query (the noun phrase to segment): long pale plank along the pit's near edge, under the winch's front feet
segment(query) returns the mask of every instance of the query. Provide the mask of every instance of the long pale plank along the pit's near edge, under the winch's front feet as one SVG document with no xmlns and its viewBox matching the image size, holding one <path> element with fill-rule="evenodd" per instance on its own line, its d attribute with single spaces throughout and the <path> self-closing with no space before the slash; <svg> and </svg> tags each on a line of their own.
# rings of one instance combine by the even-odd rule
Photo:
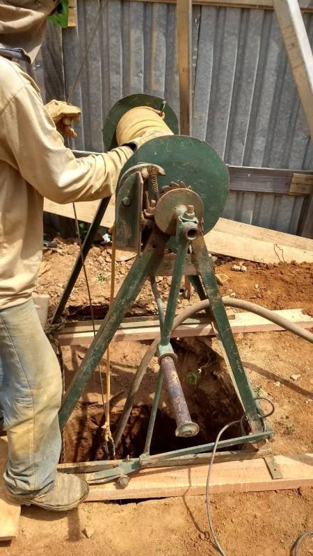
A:
<svg viewBox="0 0 313 556">
<path fill-rule="evenodd" d="M 272 479 L 264 459 L 220 461 L 213 465 L 210 492 L 259 492 L 313 486 L 313 454 L 275 456 L 282 479 Z M 115 482 L 90 486 L 88 501 L 163 498 L 205 494 L 207 465 L 143 469 L 122 490 Z"/>
</svg>

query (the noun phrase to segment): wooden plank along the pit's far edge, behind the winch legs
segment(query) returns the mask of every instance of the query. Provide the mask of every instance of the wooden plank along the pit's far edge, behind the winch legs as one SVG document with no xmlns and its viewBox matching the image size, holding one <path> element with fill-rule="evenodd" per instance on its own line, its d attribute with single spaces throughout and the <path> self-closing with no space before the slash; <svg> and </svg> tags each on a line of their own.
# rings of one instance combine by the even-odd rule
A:
<svg viewBox="0 0 313 556">
<path fill-rule="evenodd" d="M 301 309 L 283 309 L 273 311 L 278 315 L 288 318 L 291 322 L 303 328 L 313 328 L 313 318 L 305 315 Z M 230 319 L 230 326 L 234 333 L 246 332 L 271 332 L 283 330 L 282 327 L 275 325 L 266 318 L 259 317 L 254 313 L 234 313 L 234 318 Z M 99 324 L 96 325 L 96 330 Z M 187 323 L 180 325 L 172 332 L 172 338 L 186 336 L 208 336 L 213 335 L 214 330 L 209 322 Z M 122 323 L 120 328 L 113 336 L 114 342 L 117 341 L 138 341 L 153 340 L 159 335 L 159 326 L 153 321 L 147 320 L 138 323 Z M 77 325 L 69 323 L 59 332 L 58 341 L 60 345 L 88 345 L 93 341 L 93 329 L 90 324 L 84 325 L 79 322 Z"/>
</svg>

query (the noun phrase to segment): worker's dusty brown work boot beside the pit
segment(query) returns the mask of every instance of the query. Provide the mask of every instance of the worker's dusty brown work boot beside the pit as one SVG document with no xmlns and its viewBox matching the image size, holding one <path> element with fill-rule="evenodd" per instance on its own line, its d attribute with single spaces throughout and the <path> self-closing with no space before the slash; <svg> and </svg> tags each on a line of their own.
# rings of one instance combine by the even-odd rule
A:
<svg viewBox="0 0 313 556">
<path fill-rule="evenodd" d="M 57 473 L 54 488 L 45 494 L 22 496 L 6 490 L 6 496 L 15 504 L 26 506 L 34 504 L 44 509 L 51 509 L 54 512 L 66 512 L 68 509 L 76 508 L 83 500 L 86 500 L 88 492 L 88 483 L 83 479 L 68 473 Z"/>
</svg>

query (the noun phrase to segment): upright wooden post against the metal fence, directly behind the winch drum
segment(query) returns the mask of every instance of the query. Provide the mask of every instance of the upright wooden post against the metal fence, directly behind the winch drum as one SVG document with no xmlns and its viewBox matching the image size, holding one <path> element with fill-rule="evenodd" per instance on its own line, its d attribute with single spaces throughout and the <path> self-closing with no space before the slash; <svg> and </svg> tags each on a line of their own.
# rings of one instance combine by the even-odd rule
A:
<svg viewBox="0 0 313 556">
<path fill-rule="evenodd" d="M 178 0 L 176 8 L 179 78 L 179 123 L 182 135 L 191 135 L 192 120 L 192 3 Z"/>
</svg>

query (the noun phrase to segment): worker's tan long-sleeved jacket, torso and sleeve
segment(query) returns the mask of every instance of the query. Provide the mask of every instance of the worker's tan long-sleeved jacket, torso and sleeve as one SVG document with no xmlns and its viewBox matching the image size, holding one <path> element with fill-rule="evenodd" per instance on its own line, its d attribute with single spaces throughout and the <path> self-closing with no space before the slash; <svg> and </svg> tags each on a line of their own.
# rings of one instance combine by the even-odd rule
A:
<svg viewBox="0 0 313 556">
<path fill-rule="evenodd" d="M 35 82 L 0 56 L 0 309 L 25 302 L 42 255 L 43 197 L 56 203 L 112 195 L 132 150 L 75 158 Z"/>
</svg>

